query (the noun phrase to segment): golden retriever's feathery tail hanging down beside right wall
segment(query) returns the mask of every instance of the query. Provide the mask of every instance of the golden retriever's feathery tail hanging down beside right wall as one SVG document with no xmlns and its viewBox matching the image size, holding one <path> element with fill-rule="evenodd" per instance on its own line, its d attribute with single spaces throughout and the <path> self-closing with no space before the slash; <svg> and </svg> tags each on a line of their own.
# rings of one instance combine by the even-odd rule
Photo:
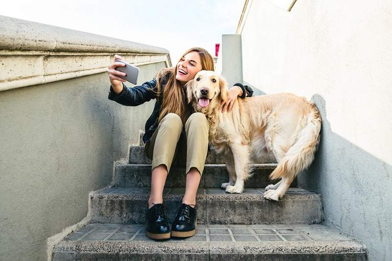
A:
<svg viewBox="0 0 392 261">
<path fill-rule="evenodd" d="M 312 163 L 319 145 L 321 129 L 319 111 L 316 106 L 313 107 L 314 110 L 308 115 L 307 125 L 299 132 L 296 142 L 272 171 L 271 179 L 287 177 L 293 180 L 299 171 Z"/>
</svg>

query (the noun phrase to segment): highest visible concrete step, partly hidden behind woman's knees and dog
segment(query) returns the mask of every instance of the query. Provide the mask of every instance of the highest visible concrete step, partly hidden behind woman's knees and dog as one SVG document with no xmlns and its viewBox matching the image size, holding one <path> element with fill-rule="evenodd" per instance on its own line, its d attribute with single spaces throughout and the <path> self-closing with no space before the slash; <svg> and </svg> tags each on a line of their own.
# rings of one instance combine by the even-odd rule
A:
<svg viewBox="0 0 392 261">
<path fill-rule="evenodd" d="M 151 160 L 147 158 L 144 146 L 132 146 L 129 151 L 130 164 L 151 164 Z M 224 164 L 224 158 L 218 156 L 215 150 L 208 151 L 206 164 Z M 264 158 L 258 159 L 255 163 L 276 163 L 275 157 L 271 154 Z"/>
</svg>

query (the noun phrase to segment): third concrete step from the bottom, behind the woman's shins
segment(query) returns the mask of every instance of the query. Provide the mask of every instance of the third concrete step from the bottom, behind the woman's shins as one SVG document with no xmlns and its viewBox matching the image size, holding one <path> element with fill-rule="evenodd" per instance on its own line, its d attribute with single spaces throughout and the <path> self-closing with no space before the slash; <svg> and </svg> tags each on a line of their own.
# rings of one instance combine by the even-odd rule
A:
<svg viewBox="0 0 392 261">
<path fill-rule="evenodd" d="M 252 164 L 253 176 L 245 182 L 245 188 L 265 188 L 271 181 L 268 176 L 275 169 L 276 164 Z M 151 165 L 127 164 L 117 165 L 114 173 L 114 184 L 118 187 L 145 188 L 151 185 Z M 228 182 L 229 176 L 226 166 L 222 164 L 206 164 L 200 180 L 200 188 L 221 188 L 221 184 Z M 185 187 L 185 167 L 172 167 L 167 177 L 165 187 Z M 296 187 L 296 180 L 291 187 Z"/>
</svg>

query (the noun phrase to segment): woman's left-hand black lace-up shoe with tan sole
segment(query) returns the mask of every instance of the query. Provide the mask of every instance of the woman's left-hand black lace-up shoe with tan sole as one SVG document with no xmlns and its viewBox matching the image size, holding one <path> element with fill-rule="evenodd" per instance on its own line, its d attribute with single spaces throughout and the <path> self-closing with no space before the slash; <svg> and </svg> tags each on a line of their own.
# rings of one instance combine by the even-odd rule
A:
<svg viewBox="0 0 392 261">
<path fill-rule="evenodd" d="M 155 204 L 146 213 L 146 234 L 152 239 L 170 238 L 170 226 L 163 204 Z"/>
</svg>

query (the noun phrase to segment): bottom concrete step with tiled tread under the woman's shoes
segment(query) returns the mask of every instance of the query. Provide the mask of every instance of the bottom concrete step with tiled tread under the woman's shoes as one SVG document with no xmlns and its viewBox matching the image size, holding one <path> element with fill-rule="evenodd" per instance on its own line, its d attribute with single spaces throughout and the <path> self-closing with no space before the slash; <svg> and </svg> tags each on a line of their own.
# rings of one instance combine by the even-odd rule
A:
<svg viewBox="0 0 392 261">
<path fill-rule="evenodd" d="M 367 249 L 323 225 L 198 225 L 153 241 L 142 225 L 92 223 L 58 243 L 53 261 L 366 261 Z"/>
</svg>

